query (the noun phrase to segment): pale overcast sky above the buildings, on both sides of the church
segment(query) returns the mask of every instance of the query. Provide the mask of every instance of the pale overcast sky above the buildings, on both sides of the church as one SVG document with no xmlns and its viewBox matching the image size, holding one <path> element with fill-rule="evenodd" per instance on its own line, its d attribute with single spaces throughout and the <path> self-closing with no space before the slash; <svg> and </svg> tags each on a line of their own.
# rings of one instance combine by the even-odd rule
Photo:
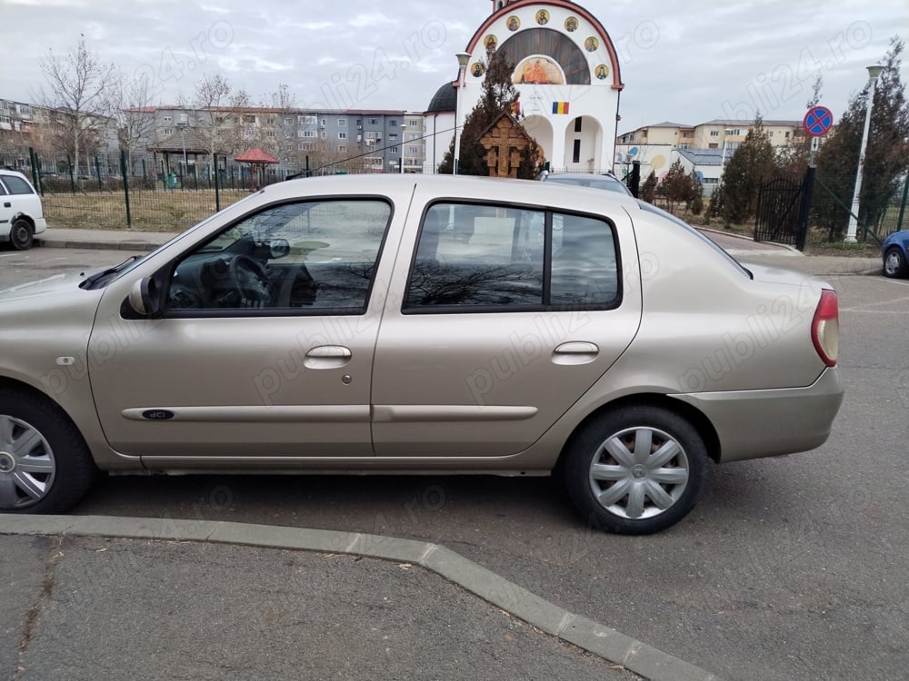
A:
<svg viewBox="0 0 909 681">
<path fill-rule="evenodd" d="M 620 132 L 714 118 L 801 119 L 814 74 L 836 116 L 864 67 L 909 35 L 906 0 L 585 0 L 612 37 Z M 0 0 L 0 98 L 35 101 L 40 59 L 80 35 L 105 62 L 155 78 L 160 103 L 204 72 L 254 100 L 288 84 L 301 107 L 423 111 L 489 0 Z M 909 81 L 904 64 L 903 82 Z"/>
</svg>

